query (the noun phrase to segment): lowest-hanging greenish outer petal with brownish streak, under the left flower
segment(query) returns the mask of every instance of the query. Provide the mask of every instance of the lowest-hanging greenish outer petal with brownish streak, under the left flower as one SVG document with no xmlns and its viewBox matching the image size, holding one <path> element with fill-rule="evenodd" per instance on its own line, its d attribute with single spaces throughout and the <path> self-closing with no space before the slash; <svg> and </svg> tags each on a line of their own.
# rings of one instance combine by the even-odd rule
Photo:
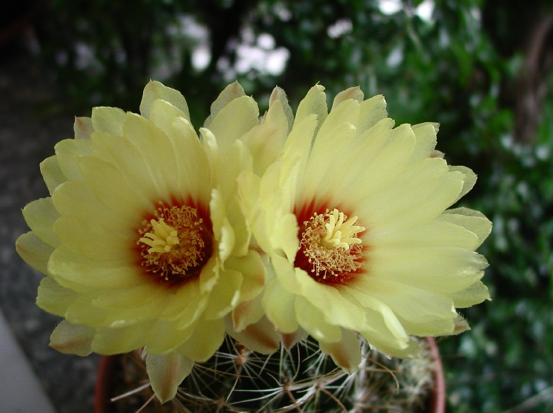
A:
<svg viewBox="0 0 553 413">
<path fill-rule="evenodd" d="M 175 397 L 178 386 L 194 367 L 194 361 L 177 352 L 146 354 L 144 359 L 151 388 L 161 403 Z"/>
</svg>

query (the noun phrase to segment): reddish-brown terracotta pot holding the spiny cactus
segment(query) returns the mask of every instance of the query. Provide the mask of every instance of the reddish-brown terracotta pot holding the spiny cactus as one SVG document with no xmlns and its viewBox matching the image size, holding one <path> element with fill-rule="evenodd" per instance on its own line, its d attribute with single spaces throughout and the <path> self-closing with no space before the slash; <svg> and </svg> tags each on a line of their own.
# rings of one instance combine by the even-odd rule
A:
<svg viewBox="0 0 553 413">
<path fill-rule="evenodd" d="M 438 345 L 436 345 L 434 338 L 427 337 L 426 339 L 435 361 L 434 388 L 429 397 L 428 412 L 444 413 L 446 389 L 440 350 L 438 349 Z M 112 413 L 116 411 L 115 405 L 110 401 L 110 399 L 113 397 L 113 388 L 115 387 L 115 383 L 120 379 L 120 376 L 117 374 L 117 369 L 120 365 L 122 357 L 123 355 L 116 355 L 102 356 L 102 358 L 100 358 L 94 394 L 94 413 Z"/>
</svg>

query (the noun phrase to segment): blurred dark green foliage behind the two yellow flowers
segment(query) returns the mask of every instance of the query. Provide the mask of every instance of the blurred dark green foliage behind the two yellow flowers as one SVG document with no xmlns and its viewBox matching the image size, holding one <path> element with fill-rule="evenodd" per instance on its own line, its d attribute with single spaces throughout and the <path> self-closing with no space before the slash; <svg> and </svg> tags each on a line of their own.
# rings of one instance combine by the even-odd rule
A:
<svg viewBox="0 0 553 413">
<path fill-rule="evenodd" d="M 78 115 L 97 104 L 136 111 L 156 77 L 182 90 L 198 127 L 236 77 L 258 102 L 275 84 L 292 106 L 317 82 L 329 95 L 360 85 L 386 96 L 397 123 L 440 122 L 438 148 L 480 176 L 462 203 L 494 222 L 480 250 L 493 301 L 465 311 L 471 332 L 441 343 L 449 410 L 553 407 L 553 79 L 525 66 L 546 1 L 52 0 L 47 12 L 41 57 Z M 280 71 L 263 66 L 275 50 L 288 50 Z M 522 117 L 518 103 L 540 87 L 545 98 Z M 517 134 L 524 119 L 538 126 Z"/>
</svg>

